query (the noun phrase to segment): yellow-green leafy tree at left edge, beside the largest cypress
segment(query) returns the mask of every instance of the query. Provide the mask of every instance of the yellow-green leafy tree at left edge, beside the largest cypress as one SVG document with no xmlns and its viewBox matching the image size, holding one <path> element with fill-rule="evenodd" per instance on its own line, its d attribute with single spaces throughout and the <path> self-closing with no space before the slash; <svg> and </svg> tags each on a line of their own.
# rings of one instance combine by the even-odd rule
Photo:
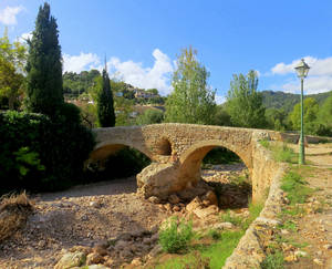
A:
<svg viewBox="0 0 332 269">
<path fill-rule="evenodd" d="M 23 66 L 27 49 L 20 42 L 10 43 L 7 31 L 0 38 L 0 100 L 3 108 L 19 106 L 19 96 L 24 92 Z"/>
</svg>

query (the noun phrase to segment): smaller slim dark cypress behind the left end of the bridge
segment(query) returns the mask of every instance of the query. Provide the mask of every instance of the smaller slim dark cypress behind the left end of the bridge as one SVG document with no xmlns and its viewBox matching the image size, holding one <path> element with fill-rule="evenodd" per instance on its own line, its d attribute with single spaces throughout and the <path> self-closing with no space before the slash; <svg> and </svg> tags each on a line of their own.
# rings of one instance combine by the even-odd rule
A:
<svg viewBox="0 0 332 269">
<path fill-rule="evenodd" d="M 114 102 L 106 68 L 103 70 L 102 87 L 97 103 L 98 122 L 102 127 L 113 127 L 115 125 Z"/>
</svg>

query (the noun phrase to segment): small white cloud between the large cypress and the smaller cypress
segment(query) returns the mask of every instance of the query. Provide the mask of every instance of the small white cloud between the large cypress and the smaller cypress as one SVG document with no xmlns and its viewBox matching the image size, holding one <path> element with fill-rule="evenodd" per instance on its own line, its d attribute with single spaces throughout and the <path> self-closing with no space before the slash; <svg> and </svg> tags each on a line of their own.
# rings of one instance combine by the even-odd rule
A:
<svg viewBox="0 0 332 269">
<path fill-rule="evenodd" d="M 80 55 L 63 54 L 63 72 L 80 73 L 83 70 L 95 69 L 100 64 L 100 58 L 93 53 L 83 53 Z"/>
</svg>

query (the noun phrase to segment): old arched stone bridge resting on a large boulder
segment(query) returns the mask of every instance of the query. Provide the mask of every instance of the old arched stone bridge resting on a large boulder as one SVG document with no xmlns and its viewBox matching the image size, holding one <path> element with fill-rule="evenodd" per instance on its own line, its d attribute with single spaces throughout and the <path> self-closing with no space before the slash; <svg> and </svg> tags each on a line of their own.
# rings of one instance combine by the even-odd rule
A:
<svg viewBox="0 0 332 269">
<path fill-rule="evenodd" d="M 100 162 L 123 146 L 144 153 L 152 164 L 137 175 L 138 192 L 145 197 L 165 198 L 172 193 L 195 187 L 200 179 L 205 155 L 216 146 L 236 153 L 248 167 L 252 199 L 259 200 L 270 185 L 258 141 L 276 132 L 194 124 L 153 124 L 95 128 L 96 146 L 91 162 Z M 271 172 L 269 172 L 271 173 Z"/>
</svg>

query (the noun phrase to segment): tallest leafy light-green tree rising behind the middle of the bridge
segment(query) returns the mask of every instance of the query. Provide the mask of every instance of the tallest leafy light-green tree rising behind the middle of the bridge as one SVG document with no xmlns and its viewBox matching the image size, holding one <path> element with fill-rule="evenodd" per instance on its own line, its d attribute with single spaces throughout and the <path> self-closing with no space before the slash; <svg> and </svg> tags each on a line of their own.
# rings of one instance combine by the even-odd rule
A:
<svg viewBox="0 0 332 269">
<path fill-rule="evenodd" d="M 173 74 L 173 93 L 166 102 L 166 122 L 211 124 L 216 111 L 215 91 L 207 85 L 209 73 L 197 51 L 184 49 Z"/>
</svg>

